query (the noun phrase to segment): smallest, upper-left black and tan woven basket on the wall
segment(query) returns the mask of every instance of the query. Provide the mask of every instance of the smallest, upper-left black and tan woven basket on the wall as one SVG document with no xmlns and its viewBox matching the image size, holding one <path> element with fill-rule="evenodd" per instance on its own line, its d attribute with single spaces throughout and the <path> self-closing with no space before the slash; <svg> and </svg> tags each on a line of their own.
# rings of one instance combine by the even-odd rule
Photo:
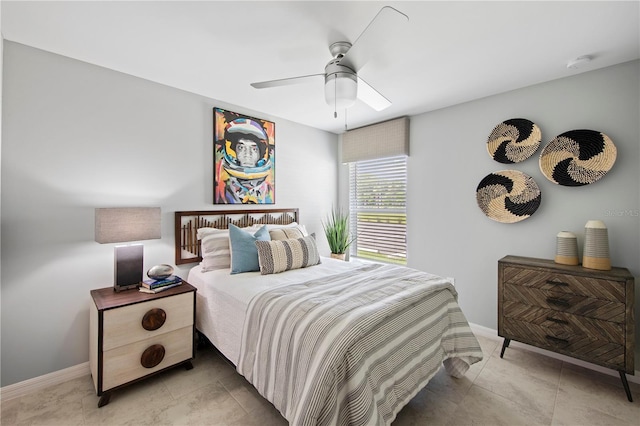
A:
<svg viewBox="0 0 640 426">
<path fill-rule="evenodd" d="M 487 140 L 489 155 L 499 163 L 519 163 L 538 150 L 540 128 L 524 118 L 512 118 L 494 127 Z"/>
</svg>

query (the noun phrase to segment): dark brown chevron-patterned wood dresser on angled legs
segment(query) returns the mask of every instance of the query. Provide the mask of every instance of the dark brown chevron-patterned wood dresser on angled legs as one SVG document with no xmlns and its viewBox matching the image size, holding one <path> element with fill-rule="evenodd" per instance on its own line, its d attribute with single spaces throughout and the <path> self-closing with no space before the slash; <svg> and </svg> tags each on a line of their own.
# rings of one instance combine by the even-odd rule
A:
<svg viewBox="0 0 640 426">
<path fill-rule="evenodd" d="M 498 335 L 502 358 L 511 340 L 634 374 L 634 278 L 610 271 L 560 265 L 553 260 L 506 256 L 498 261 Z"/>
</svg>

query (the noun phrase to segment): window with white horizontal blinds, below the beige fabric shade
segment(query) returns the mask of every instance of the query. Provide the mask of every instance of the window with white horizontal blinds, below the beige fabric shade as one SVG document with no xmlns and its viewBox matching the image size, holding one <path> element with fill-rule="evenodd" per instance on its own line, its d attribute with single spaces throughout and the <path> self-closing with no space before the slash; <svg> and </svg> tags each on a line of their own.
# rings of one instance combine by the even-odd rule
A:
<svg viewBox="0 0 640 426">
<path fill-rule="evenodd" d="M 407 263 L 407 156 L 349 163 L 352 256 Z"/>
</svg>

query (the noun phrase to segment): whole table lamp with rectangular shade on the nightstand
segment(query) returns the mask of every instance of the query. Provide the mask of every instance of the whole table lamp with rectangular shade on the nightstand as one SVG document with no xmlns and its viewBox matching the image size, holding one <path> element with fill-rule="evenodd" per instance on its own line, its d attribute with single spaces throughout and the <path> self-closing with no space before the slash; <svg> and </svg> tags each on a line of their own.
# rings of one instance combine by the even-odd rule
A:
<svg viewBox="0 0 640 426">
<path fill-rule="evenodd" d="M 160 207 L 97 208 L 95 239 L 100 244 L 161 238 Z M 114 291 L 136 288 L 143 275 L 142 244 L 115 246 Z"/>
</svg>

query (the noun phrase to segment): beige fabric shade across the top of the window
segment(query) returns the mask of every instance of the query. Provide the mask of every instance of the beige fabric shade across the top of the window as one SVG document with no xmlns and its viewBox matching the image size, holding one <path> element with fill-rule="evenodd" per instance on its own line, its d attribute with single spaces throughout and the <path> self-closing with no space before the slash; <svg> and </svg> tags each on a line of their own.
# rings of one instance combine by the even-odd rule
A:
<svg viewBox="0 0 640 426">
<path fill-rule="evenodd" d="M 409 155 L 409 118 L 401 117 L 342 135 L 342 162 Z"/>
</svg>

